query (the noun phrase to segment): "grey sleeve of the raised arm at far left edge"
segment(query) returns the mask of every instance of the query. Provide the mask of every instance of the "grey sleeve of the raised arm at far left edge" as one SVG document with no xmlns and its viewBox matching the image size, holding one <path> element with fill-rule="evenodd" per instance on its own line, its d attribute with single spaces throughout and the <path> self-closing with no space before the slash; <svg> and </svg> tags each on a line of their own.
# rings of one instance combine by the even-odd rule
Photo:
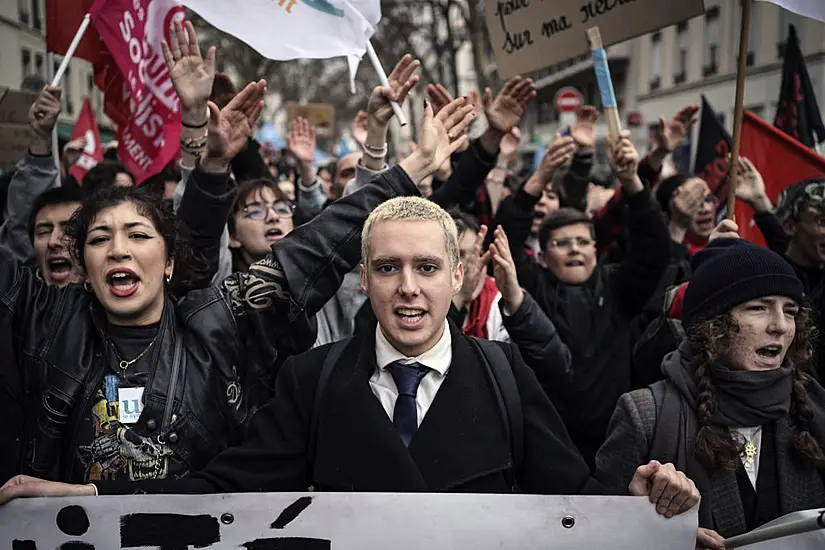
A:
<svg viewBox="0 0 825 550">
<path fill-rule="evenodd" d="M 34 259 L 29 234 L 32 205 L 37 197 L 57 185 L 54 156 L 36 157 L 26 153 L 17 163 L 9 183 L 6 221 L 0 226 L 0 245 L 8 248 L 20 263 L 28 264 Z"/>
</svg>

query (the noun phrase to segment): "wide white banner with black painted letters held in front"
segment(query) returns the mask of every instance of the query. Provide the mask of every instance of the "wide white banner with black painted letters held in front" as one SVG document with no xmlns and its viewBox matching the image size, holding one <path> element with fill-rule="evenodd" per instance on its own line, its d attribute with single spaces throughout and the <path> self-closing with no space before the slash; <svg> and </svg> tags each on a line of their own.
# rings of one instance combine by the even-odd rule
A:
<svg viewBox="0 0 825 550">
<path fill-rule="evenodd" d="M 692 550 L 697 522 L 696 508 L 666 519 L 641 497 L 256 493 L 39 498 L 0 507 L 0 548 Z"/>
</svg>

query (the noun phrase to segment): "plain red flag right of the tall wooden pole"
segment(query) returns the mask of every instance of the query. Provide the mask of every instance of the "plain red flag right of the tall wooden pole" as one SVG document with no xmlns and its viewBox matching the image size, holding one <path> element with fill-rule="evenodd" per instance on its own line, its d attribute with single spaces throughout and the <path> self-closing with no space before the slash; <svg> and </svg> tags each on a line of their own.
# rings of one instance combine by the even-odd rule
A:
<svg viewBox="0 0 825 550">
<path fill-rule="evenodd" d="M 779 193 L 802 180 L 825 176 L 825 158 L 753 113 L 745 111 L 739 154 L 753 162 L 765 180 L 768 198 L 776 203 Z M 753 209 L 736 203 L 736 223 L 743 239 L 765 245 L 753 223 Z"/>
</svg>

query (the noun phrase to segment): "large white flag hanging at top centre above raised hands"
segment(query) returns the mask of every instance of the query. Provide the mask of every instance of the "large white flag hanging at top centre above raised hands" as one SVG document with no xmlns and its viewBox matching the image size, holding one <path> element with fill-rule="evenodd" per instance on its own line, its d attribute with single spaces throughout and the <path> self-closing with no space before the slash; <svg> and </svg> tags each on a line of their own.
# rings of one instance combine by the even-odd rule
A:
<svg viewBox="0 0 825 550">
<path fill-rule="evenodd" d="M 277 60 L 362 56 L 380 0 L 180 0 L 220 30 Z"/>
</svg>

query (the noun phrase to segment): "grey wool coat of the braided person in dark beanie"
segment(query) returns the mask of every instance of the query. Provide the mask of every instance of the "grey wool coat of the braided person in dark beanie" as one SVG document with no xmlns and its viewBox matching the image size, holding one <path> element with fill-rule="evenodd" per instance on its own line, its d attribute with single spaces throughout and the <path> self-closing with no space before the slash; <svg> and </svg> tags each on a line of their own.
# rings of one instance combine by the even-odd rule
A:
<svg viewBox="0 0 825 550">
<path fill-rule="evenodd" d="M 809 396 L 821 401 L 823 390 L 818 385 L 817 388 L 812 388 Z M 627 487 L 639 464 L 650 460 L 675 463 L 675 457 L 651 456 L 655 427 L 656 402 L 649 388 L 622 395 L 610 421 L 607 440 L 596 455 L 596 477 L 608 487 Z M 776 422 L 776 467 L 783 515 L 825 506 L 823 477 L 812 468 L 804 468 L 791 456 L 793 434 L 789 418 Z M 714 529 L 725 538 L 744 533 L 747 530 L 745 511 L 736 474 L 720 469 L 712 472 L 709 479 L 710 487 L 699 487 L 702 493 L 699 525 Z"/>
</svg>

